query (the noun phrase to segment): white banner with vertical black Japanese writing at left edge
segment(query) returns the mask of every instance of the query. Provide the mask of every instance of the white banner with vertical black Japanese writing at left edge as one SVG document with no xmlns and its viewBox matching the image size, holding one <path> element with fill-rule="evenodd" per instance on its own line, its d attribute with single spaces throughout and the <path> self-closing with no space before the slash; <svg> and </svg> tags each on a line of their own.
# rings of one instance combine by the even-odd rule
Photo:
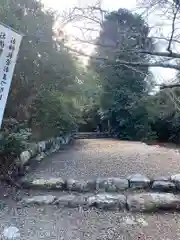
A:
<svg viewBox="0 0 180 240">
<path fill-rule="evenodd" d="M 21 40 L 21 34 L 0 24 L 0 127 Z"/>
</svg>

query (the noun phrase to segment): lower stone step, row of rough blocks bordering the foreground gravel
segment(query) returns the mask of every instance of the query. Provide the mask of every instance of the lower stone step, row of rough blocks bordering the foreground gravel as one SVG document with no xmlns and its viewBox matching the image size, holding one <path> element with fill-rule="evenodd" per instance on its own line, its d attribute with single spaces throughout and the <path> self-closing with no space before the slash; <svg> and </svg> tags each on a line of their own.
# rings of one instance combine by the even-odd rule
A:
<svg viewBox="0 0 180 240">
<path fill-rule="evenodd" d="M 180 196 L 172 193 L 138 194 L 65 194 L 62 196 L 37 195 L 25 197 L 20 205 L 54 205 L 59 208 L 98 208 L 103 210 L 156 212 L 159 210 L 180 210 Z"/>
</svg>

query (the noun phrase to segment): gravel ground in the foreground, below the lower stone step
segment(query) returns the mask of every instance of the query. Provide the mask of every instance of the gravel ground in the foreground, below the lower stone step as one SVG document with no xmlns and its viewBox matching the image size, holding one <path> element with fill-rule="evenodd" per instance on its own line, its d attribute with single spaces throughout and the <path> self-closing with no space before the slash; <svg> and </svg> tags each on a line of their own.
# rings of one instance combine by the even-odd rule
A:
<svg viewBox="0 0 180 240">
<path fill-rule="evenodd" d="M 15 226 L 20 240 L 177 240 L 179 224 L 177 213 L 147 215 L 10 205 L 0 211 L 0 231 Z"/>
</svg>

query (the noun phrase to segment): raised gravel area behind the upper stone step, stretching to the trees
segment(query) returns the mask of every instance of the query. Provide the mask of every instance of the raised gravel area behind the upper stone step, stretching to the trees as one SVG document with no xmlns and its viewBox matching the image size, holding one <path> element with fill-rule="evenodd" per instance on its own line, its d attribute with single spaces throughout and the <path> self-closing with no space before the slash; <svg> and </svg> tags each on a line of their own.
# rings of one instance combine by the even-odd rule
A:
<svg viewBox="0 0 180 240">
<path fill-rule="evenodd" d="M 177 150 L 116 140 L 78 140 L 68 151 L 43 160 L 35 169 L 37 177 L 125 177 L 144 173 L 149 177 L 180 171 Z"/>
</svg>

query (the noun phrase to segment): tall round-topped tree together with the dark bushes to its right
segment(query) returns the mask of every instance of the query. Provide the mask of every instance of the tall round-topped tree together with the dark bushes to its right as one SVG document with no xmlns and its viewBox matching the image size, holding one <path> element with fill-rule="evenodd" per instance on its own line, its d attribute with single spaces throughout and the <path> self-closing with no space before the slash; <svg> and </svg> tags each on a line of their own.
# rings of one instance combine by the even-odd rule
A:
<svg viewBox="0 0 180 240">
<path fill-rule="evenodd" d="M 84 112 L 86 126 L 94 128 L 100 122 L 100 112 L 101 123 L 109 121 L 111 134 L 120 139 L 179 143 L 180 90 L 173 90 L 177 103 L 170 90 L 150 95 L 154 82 L 148 68 L 119 65 L 116 61 L 148 61 L 136 51 L 155 47 L 148 34 L 145 21 L 128 10 L 119 9 L 106 17 L 95 56 L 107 60 L 89 63 L 99 76 L 101 97 L 95 108 Z"/>
</svg>

